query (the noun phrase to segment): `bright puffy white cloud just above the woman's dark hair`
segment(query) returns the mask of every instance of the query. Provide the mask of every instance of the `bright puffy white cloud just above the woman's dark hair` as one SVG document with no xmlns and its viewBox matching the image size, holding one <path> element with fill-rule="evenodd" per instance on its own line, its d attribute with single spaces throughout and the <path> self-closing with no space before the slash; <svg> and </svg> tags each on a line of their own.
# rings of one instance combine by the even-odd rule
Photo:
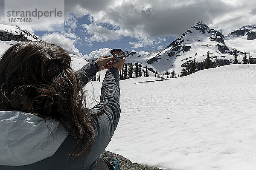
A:
<svg viewBox="0 0 256 170">
<path fill-rule="evenodd" d="M 64 35 L 68 35 L 68 34 L 65 33 Z M 64 35 L 58 32 L 54 32 L 52 34 L 44 34 L 42 36 L 42 40 L 61 46 L 69 54 L 75 54 L 79 57 L 84 57 L 83 54 L 81 54 L 74 45 L 74 42 L 76 42 L 76 40 L 72 40 Z M 72 37 L 73 35 L 70 34 L 69 36 Z"/>
</svg>

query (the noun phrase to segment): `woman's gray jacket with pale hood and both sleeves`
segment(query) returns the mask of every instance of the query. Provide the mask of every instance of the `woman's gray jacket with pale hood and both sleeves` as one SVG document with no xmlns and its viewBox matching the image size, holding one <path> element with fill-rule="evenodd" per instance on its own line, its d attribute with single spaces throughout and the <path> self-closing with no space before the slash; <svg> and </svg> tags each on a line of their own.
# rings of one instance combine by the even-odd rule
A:
<svg viewBox="0 0 256 170">
<path fill-rule="evenodd" d="M 98 70 L 96 62 L 89 62 L 78 71 L 86 75 L 82 77 L 84 86 Z M 100 103 L 91 109 L 93 114 L 99 113 L 103 102 L 106 110 L 93 124 L 96 137 L 82 161 L 70 162 L 68 155 L 77 139 L 58 121 L 21 111 L 0 111 L 0 170 L 94 170 L 119 121 L 119 94 L 119 72 L 110 68 L 102 82 Z"/>
</svg>

